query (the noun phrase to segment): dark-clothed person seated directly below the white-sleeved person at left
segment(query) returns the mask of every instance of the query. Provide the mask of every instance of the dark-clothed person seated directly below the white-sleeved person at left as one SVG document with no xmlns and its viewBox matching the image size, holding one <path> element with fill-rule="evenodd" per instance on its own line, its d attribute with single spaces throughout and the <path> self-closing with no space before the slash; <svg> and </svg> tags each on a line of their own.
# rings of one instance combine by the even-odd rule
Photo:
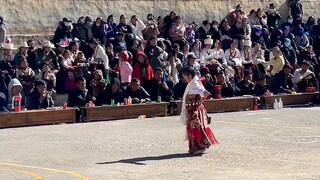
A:
<svg viewBox="0 0 320 180">
<path fill-rule="evenodd" d="M 92 87 L 92 96 L 94 97 L 94 99 L 96 99 L 96 97 L 106 86 L 101 70 L 97 69 L 93 73 L 93 79 L 90 82 L 90 86 Z"/>
</svg>

